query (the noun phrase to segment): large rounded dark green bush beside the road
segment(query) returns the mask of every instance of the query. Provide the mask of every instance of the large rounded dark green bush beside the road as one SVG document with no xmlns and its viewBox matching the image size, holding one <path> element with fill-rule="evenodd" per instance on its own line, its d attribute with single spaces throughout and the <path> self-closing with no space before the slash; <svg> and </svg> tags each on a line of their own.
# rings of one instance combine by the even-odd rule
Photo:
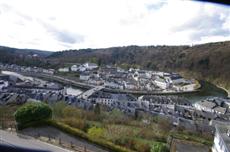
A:
<svg viewBox="0 0 230 152">
<path fill-rule="evenodd" d="M 19 125 L 34 121 L 42 121 L 52 117 L 52 110 L 47 104 L 41 102 L 26 103 L 15 113 L 15 120 Z"/>
</svg>

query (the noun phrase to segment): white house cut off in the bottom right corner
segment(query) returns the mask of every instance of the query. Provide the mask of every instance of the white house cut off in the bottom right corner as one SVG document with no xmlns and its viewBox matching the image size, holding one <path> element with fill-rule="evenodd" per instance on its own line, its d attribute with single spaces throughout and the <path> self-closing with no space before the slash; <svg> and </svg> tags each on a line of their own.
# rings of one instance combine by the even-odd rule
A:
<svg viewBox="0 0 230 152">
<path fill-rule="evenodd" d="M 217 124 L 215 128 L 212 152 L 230 152 L 230 126 Z"/>
</svg>

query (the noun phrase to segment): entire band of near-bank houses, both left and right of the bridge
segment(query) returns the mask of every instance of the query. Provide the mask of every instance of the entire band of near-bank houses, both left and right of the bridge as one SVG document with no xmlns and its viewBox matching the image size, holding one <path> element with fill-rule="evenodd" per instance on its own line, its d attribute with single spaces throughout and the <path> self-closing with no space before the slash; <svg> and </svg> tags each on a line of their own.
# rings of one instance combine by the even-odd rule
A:
<svg viewBox="0 0 230 152">
<path fill-rule="evenodd" d="M 16 76 L 17 78 L 15 78 Z M 50 103 L 65 101 L 70 105 L 86 109 L 95 106 L 95 104 L 101 104 L 109 109 L 120 109 L 130 115 L 134 115 L 136 111 L 143 111 L 190 120 L 197 117 L 229 120 L 230 101 L 227 99 L 212 98 L 191 105 L 185 98 L 178 96 L 143 95 L 137 98 L 131 94 L 109 93 L 104 91 L 106 86 L 96 86 L 80 95 L 72 95 L 67 94 L 66 88 L 58 83 L 37 78 L 30 79 L 31 77 L 23 77 L 19 74 L 16 76 L 0 76 L 0 88 L 2 88 L 0 91 L 2 94 L 22 94 L 30 99 L 48 101 Z M 5 96 L 4 98 L 8 99 Z M 3 103 L 8 103 L 5 99 Z M 17 97 L 15 99 L 16 102 L 25 102 L 19 99 L 21 98 Z"/>
</svg>

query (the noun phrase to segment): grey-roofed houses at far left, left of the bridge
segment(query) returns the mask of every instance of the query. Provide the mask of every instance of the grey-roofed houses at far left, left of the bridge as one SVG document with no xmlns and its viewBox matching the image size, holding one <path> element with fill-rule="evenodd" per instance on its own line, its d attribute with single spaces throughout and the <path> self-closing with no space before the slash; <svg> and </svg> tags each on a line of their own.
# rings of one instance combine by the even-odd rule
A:
<svg viewBox="0 0 230 152">
<path fill-rule="evenodd" d="M 25 77 L 10 71 L 2 71 L 0 75 L 0 102 L 4 104 L 22 104 L 27 99 L 57 102 L 63 99 L 65 92 L 64 87 L 58 83 Z"/>
</svg>

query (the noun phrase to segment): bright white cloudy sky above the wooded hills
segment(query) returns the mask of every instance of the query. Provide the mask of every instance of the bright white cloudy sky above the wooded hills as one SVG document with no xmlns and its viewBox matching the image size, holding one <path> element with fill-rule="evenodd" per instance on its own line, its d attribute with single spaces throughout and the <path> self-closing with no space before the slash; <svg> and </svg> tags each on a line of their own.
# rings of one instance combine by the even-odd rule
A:
<svg viewBox="0 0 230 152">
<path fill-rule="evenodd" d="M 0 45 L 61 51 L 230 40 L 230 6 L 188 0 L 0 0 Z"/>
</svg>

